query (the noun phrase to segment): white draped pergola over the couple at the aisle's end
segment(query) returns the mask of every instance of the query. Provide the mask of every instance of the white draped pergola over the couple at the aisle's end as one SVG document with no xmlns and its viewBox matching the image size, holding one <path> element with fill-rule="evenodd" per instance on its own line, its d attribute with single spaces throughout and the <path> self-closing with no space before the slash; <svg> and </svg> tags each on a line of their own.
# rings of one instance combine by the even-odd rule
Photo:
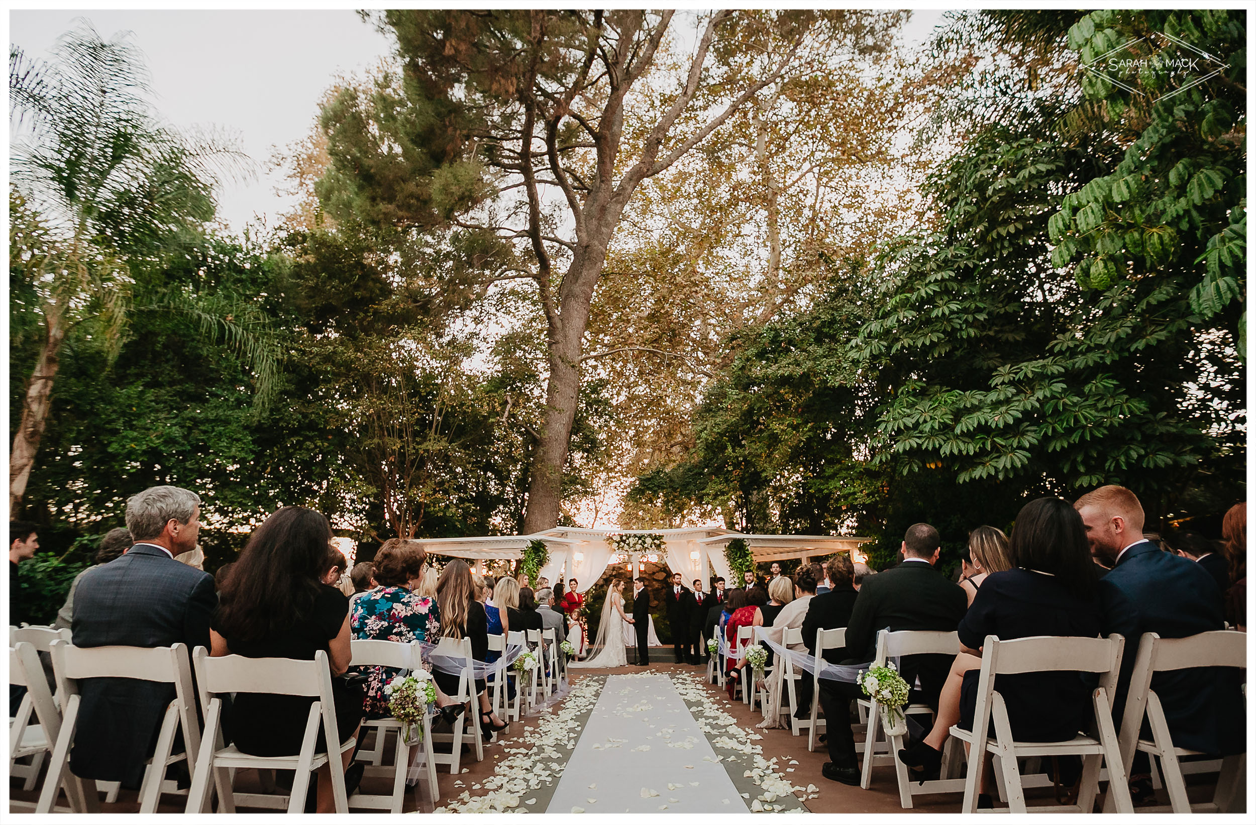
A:
<svg viewBox="0 0 1256 825">
<path fill-rule="evenodd" d="M 531 541 L 544 541 L 549 547 L 549 561 L 540 574 L 551 583 L 575 579 L 578 590 L 588 590 L 602 578 L 612 564 L 631 566 L 633 578 L 639 574 L 642 556 L 628 554 L 617 556 L 607 540 L 608 535 L 654 534 L 663 536 L 664 549 L 658 561 L 666 563 L 673 573 L 685 576 L 686 584 L 693 579 L 707 579 L 707 565 L 716 575 L 723 576 L 730 586 L 728 564 L 723 547 L 734 539 L 742 539 L 755 561 L 799 559 L 804 564 L 811 556 L 845 553 L 852 561 L 862 561 L 859 545 L 872 541 L 863 536 L 779 536 L 737 532 L 723 527 L 682 527 L 679 530 L 588 530 L 584 527 L 554 527 L 525 536 L 472 536 L 463 539 L 414 539 L 423 550 L 440 556 L 467 559 L 470 561 L 516 561 Z"/>
</svg>

